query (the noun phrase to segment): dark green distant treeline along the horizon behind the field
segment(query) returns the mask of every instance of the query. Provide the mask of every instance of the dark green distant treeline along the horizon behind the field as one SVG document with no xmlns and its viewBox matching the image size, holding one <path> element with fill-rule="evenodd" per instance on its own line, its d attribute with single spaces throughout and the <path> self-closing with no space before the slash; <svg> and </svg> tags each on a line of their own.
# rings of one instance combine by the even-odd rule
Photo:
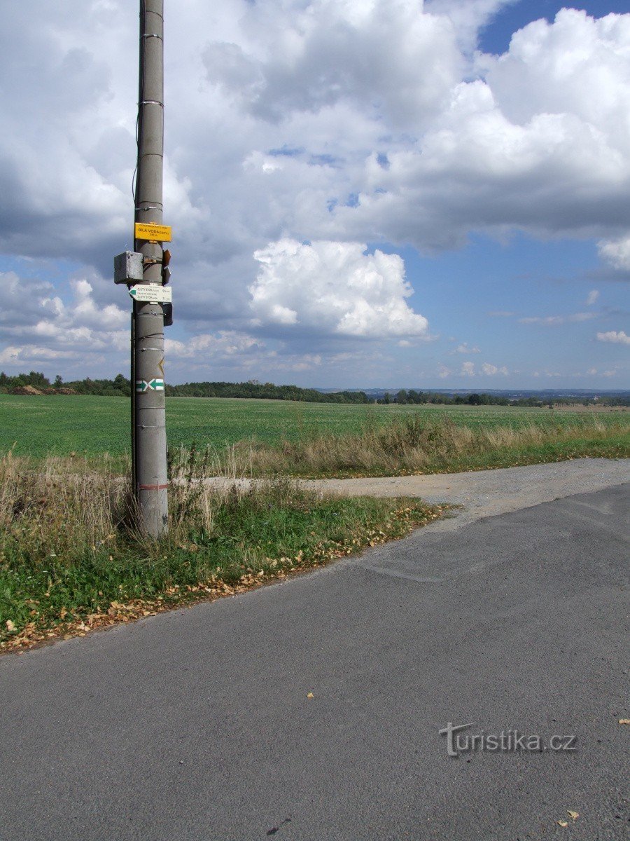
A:
<svg viewBox="0 0 630 841">
<path fill-rule="evenodd" d="M 98 397 L 129 397 L 131 383 L 129 379 L 119 373 L 113 379 L 77 379 L 64 382 L 57 375 L 52 383 L 39 371 L 20 373 L 17 377 L 8 377 L 0 373 L 0 394 L 6 394 L 19 387 L 31 386 L 39 391 L 53 394 L 93 394 Z M 324 394 L 317 389 L 301 389 L 297 385 L 274 385 L 274 383 L 259 383 L 250 379 L 246 383 L 184 383 L 183 385 L 166 384 L 167 397 L 252 397 L 269 400 L 299 400 L 304 403 L 380 403 L 398 405 L 423 405 L 426 403 L 442 405 L 473 405 L 473 406 L 552 406 L 552 405 L 606 405 L 627 406 L 630 398 L 625 396 L 608 395 L 598 398 L 584 397 L 522 397 L 510 399 L 501 394 L 444 394 L 433 391 L 416 391 L 415 389 L 401 389 L 396 394 L 386 392 L 384 397 L 374 400 L 365 391 L 335 391 Z"/>
</svg>

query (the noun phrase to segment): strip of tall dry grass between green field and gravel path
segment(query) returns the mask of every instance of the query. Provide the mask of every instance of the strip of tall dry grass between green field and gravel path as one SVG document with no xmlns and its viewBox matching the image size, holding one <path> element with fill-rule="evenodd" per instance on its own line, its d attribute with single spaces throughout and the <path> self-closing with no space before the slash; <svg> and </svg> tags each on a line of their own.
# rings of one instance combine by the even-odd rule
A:
<svg viewBox="0 0 630 841">
<path fill-rule="evenodd" d="M 309 478 L 459 473 L 570 458 L 628 458 L 630 423 L 580 422 L 539 426 L 459 426 L 448 417 L 396 418 L 360 434 L 319 435 L 276 447 L 240 443 L 230 451 L 237 468 L 254 475 Z"/>
</svg>

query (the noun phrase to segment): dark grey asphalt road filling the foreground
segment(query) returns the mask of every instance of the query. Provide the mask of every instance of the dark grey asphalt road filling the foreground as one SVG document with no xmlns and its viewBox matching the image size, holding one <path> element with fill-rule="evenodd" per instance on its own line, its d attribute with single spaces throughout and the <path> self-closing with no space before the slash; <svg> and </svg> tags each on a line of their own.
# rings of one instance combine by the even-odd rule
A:
<svg viewBox="0 0 630 841">
<path fill-rule="evenodd" d="M 626 838 L 629 487 L 0 659 L 0 838 Z"/>
</svg>

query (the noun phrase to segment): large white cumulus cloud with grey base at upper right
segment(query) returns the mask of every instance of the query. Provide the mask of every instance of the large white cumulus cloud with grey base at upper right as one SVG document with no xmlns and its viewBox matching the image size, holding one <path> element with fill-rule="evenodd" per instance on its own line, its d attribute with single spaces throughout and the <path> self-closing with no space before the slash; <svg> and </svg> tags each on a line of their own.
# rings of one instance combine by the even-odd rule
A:
<svg viewBox="0 0 630 841">
<path fill-rule="evenodd" d="M 381 226 L 420 248 L 457 245 L 470 230 L 597 235 L 620 230 L 630 188 L 630 15 L 572 9 L 529 24 L 503 56 L 481 56 L 478 78 L 416 144 L 365 170 L 339 221 Z M 579 197 L 579 201 L 576 198 Z"/>
</svg>

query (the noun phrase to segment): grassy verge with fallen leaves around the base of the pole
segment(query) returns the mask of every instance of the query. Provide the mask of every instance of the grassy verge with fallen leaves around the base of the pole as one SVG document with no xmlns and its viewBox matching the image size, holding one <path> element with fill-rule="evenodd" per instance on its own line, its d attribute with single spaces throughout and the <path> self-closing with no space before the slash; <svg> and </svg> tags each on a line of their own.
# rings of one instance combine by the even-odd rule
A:
<svg viewBox="0 0 630 841">
<path fill-rule="evenodd" d="M 290 479 L 217 489 L 200 481 L 216 465 L 193 451 L 174 468 L 168 535 L 152 542 L 129 525 L 129 488 L 110 466 L 0 459 L 0 651 L 243 592 L 403 537 L 444 507 Z"/>
</svg>

